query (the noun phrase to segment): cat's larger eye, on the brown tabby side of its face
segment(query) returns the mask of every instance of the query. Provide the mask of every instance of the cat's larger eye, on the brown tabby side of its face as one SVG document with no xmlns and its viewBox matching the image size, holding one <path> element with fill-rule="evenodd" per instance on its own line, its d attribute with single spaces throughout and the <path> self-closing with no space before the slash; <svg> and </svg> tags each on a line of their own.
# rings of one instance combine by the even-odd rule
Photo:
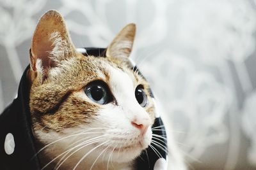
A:
<svg viewBox="0 0 256 170">
<path fill-rule="evenodd" d="M 93 102 L 99 104 L 109 103 L 110 93 L 106 83 L 103 81 L 93 81 L 84 88 L 86 96 L 88 96 Z"/>
</svg>

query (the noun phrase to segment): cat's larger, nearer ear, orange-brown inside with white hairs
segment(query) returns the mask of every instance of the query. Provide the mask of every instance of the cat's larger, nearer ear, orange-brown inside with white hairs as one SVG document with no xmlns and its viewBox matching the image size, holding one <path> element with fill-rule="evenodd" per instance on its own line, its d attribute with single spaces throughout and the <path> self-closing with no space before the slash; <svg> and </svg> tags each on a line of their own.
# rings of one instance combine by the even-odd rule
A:
<svg viewBox="0 0 256 170">
<path fill-rule="evenodd" d="M 36 25 L 30 50 L 33 71 L 56 66 L 61 60 L 76 53 L 63 17 L 55 10 L 47 11 Z"/>
</svg>

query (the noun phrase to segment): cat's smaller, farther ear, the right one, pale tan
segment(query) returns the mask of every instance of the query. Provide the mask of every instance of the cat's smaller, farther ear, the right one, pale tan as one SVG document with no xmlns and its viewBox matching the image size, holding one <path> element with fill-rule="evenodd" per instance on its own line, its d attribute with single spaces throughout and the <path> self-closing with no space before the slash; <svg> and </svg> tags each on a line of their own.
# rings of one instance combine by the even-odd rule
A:
<svg viewBox="0 0 256 170">
<path fill-rule="evenodd" d="M 136 33 L 136 25 L 128 24 L 113 39 L 107 48 L 107 57 L 129 57 Z"/>
</svg>

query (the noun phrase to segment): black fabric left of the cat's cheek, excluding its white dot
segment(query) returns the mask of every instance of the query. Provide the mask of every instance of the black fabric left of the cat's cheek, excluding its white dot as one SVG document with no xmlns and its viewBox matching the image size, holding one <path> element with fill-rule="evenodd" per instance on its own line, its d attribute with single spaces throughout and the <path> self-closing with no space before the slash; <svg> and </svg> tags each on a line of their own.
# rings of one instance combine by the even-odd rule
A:
<svg viewBox="0 0 256 170">
<path fill-rule="evenodd" d="M 39 169 L 38 159 L 31 160 L 35 155 L 34 138 L 31 132 L 29 113 L 29 85 L 24 71 L 20 80 L 17 99 L 14 99 L 0 115 L 0 169 Z M 4 151 L 6 134 L 12 133 L 15 149 L 11 155 Z"/>
</svg>

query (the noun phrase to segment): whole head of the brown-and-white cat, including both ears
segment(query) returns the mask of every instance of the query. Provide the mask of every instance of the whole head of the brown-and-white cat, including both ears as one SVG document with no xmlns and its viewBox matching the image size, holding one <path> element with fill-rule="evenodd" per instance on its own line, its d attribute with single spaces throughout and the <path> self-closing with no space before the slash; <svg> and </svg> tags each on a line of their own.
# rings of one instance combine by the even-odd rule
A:
<svg viewBox="0 0 256 170">
<path fill-rule="evenodd" d="M 31 45 L 29 107 L 45 164 L 131 162 L 150 145 L 154 104 L 147 81 L 129 64 L 134 35 L 129 24 L 107 57 L 84 57 L 58 12 L 40 19 Z"/>
</svg>

